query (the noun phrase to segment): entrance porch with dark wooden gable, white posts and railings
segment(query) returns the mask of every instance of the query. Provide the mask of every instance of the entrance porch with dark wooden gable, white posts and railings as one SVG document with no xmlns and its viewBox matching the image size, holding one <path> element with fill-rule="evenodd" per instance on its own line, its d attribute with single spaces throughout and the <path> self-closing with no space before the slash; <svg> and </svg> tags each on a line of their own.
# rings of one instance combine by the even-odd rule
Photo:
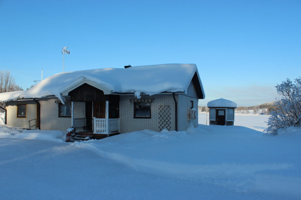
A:
<svg viewBox="0 0 301 200">
<path fill-rule="evenodd" d="M 74 85 L 65 91 L 71 100 L 71 126 L 76 130 L 84 130 L 76 133 L 79 140 L 103 139 L 120 131 L 119 95 L 92 85 Z M 75 102 L 85 103 L 84 115 L 77 114 L 77 118 L 74 117 Z"/>
</svg>

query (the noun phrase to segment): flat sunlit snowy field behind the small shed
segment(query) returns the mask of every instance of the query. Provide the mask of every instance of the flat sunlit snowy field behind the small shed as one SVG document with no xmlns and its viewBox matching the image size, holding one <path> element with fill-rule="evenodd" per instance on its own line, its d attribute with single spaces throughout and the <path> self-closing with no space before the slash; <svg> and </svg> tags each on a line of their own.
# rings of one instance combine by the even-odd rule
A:
<svg viewBox="0 0 301 200">
<path fill-rule="evenodd" d="M 236 113 L 234 115 L 235 126 L 244 126 L 258 131 L 263 131 L 268 127 L 265 121 L 268 121 L 268 115 Z M 199 124 L 206 124 L 206 112 L 199 112 Z M 209 125 L 209 112 L 207 113 L 207 125 Z"/>
</svg>

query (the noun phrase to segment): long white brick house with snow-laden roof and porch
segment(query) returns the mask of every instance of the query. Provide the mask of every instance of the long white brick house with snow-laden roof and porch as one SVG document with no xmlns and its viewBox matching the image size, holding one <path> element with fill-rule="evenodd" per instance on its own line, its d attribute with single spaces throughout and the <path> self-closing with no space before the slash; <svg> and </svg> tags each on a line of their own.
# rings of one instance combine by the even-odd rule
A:
<svg viewBox="0 0 301 200">
<path fill-rule="evenodd" d="M 195 64 L 125 66 L 58 73 L 27 91 L 0 94 L 5 122 L 40 130 L 92 130 L 95 134 L 198 125 L 205 94 Z"/>
</svg>

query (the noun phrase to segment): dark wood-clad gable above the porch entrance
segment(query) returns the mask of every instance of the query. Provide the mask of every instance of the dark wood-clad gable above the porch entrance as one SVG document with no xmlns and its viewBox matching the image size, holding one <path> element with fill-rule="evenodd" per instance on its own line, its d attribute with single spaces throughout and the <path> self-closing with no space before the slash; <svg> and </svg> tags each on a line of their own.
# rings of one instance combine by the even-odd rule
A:
<svg viewBox="0 0 301 200">
<path fill-rule="evenodd" d="M 87 101 L 119 101 L 119 95 L 104 94 L 104 92 L 98 88 L 95 88 L 87 83 L 70 91 L 68 94 L 71 101 L 87 102 Z"/>
</svg>

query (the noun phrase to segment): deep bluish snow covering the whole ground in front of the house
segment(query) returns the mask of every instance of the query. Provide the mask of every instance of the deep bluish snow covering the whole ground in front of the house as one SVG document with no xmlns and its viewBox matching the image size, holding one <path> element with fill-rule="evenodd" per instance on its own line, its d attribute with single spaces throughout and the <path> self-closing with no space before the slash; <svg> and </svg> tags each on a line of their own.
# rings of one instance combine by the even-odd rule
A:
<svg viewBox="0 0 301 200">
<path fill-rule="evenodd" d="M 66 143 L 1 125 L 0 199 L 300 199 L 301 130 L 263 135 L 200 124 Z"/>
</svg>

